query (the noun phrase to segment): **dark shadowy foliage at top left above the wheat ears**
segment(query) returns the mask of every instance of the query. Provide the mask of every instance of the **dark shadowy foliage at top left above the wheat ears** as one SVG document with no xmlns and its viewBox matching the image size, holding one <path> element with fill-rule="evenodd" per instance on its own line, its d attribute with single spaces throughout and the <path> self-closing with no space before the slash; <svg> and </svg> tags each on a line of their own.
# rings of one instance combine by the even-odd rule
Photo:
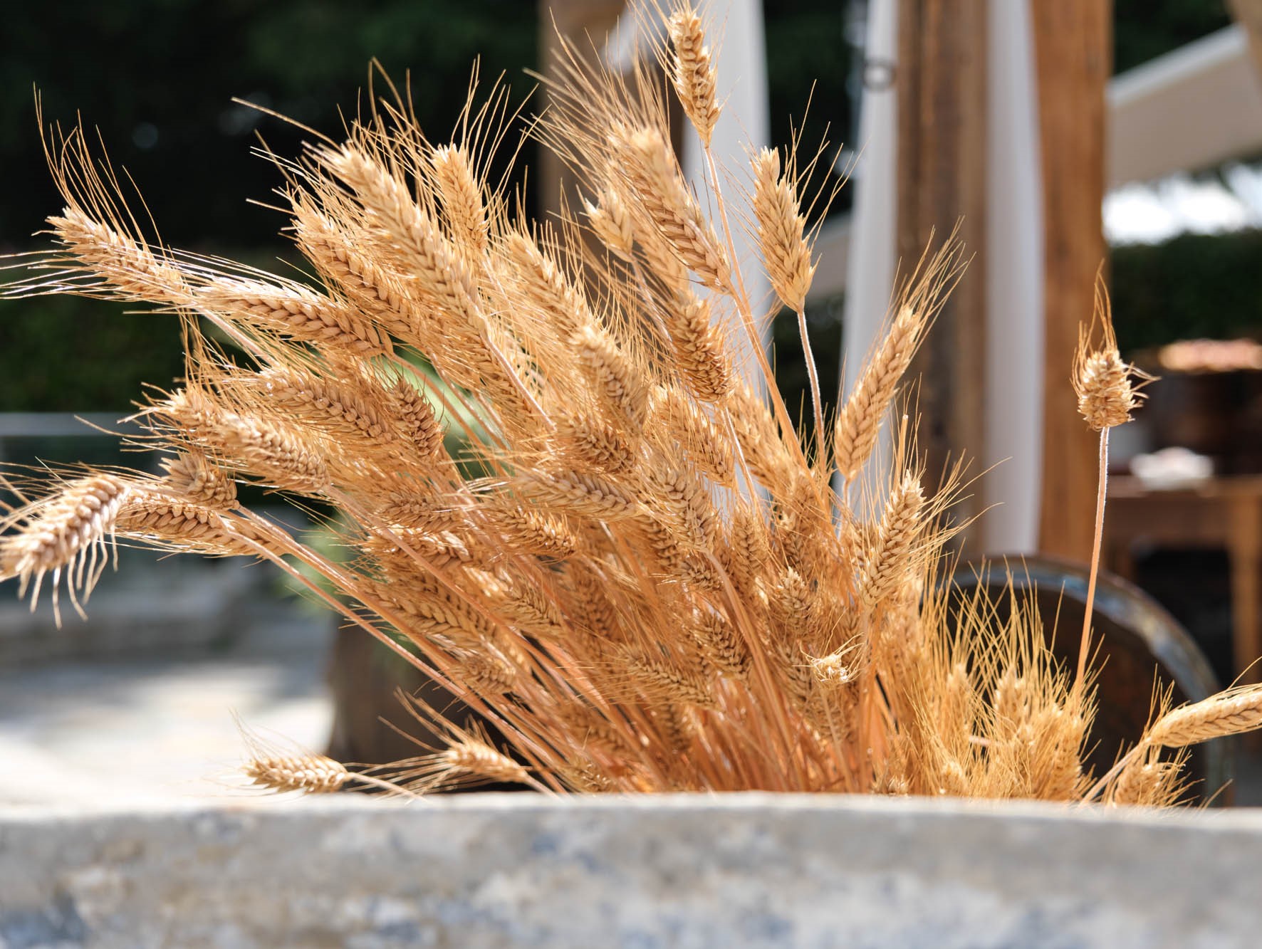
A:
<svg viewBox="0 0 1262 949">
<path fill-rule="evenodd" d="M 310 136 L 256 102 L 337 135 L 376 57 L 416 115 L 445 134 L 475 57 L 522 95 L 535 62 L 535 5 L 522 0 L 58 0 L 9 4 L 0 29 L 0 249 L 23 246 L 59 207 L 38 146 L 32 87 L 45 121 L 98 126 L 155 208 L 172 244 L 276 246 L 276 215 L 246 204 L 280 184 L 252 156 L 260 133 L 294 155 Z M 341 112 L 339 112 L 341 110 Z M 13 182 L 21 182 L 14 188 Z"/>
</svg>

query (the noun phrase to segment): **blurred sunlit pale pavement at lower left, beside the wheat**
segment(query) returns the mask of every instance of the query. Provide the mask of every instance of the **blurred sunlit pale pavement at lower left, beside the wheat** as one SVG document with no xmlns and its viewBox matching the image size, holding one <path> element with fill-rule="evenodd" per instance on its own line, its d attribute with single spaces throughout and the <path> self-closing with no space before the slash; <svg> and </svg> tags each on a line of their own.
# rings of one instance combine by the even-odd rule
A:
<svg viewBox="0 0 1262 949">
<path fill-rule="evenodd" d="M 332 617 L 264 588 L 236 622 L 209 645 L 0 665 L 0 806 L 222 803 L 240 794 L 233 713 L 322 750 Z"/>
</svg>

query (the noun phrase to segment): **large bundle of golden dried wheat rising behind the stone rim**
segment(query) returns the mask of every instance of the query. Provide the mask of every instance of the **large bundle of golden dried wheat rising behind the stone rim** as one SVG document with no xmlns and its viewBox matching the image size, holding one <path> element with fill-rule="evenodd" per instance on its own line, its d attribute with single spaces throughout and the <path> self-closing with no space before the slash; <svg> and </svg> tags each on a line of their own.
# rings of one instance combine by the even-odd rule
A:
<svg viewBox="0 0 1262 949">
<path fill-rule="evenodd" d="M 141 411 L 165 476 L 67 477 L 4 520 L 0 577 L 38 596 L 50 574 L 78 606 L 115 538 L 279 564 L 504 736 L 440 723 L 449 747 L 398 772 L 420 791 L 1171 801 L 1179 770 L 1157 750 L 1256 726 L 1252 693 L 1162 718 L 1090 787 L 1093 697 L 1053 661 L 1039 617 L 998 622 L 982 601 L 948 616 L 935 570 L 952 488 L 925 496 L 906 424 L 880 515 L 852 505 L 958 247 L 912 274 L 804 449 L 761 346 L 781 303 L 800 319 L 814 271 L 798 158 L 765 151 L 724 179 L 702 19 L 675 13 L 656 54 L 707 149 L 705 193 L 670 148 L 656 66 L 615 76 L 569 50 L 536 131 L 577 172 L 582 211 L 531 226 L 487 180 L 501 93 L 469 105 L 448 144 L 379 105 L 346 141 L 283 165 L 319 285 L 146 241 L 83 136 L 58 140 L 58 246 L 21 261 L 35 273 L 9 293 L 169 309 L 187 380 Z M 762 260 L 738 261 L 740 227 Z M 748 297 L 750 266 L 777 299 Z M 333 506 L 351 555 L 334 563 L 247 510 L 239 482 Z M 346 782 L 317 763 L 251 774 Z"/>
</svg>

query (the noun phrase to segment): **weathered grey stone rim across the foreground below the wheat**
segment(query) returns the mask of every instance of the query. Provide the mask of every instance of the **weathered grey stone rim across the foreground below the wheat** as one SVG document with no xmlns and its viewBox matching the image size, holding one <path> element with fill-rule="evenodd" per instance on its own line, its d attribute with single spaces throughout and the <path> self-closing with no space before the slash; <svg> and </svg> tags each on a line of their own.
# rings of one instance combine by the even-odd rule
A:
<svg viewBox="0 0 1262 949">
<path fill-rule="evenodd" d="M 1230 946 L 1262 813 L 480 795 L 0 815 L 0 946 Z"/>
</svg>

